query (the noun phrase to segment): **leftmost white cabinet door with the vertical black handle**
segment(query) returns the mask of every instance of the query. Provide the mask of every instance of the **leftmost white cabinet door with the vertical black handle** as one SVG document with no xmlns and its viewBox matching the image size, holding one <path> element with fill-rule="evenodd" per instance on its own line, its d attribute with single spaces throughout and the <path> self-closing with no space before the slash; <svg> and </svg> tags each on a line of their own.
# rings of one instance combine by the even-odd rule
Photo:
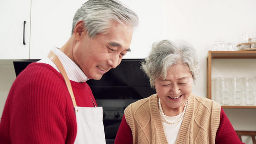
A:
<svg viewBox="0 0 256 144">
<path fill-rule="evenodd" d="M 0 0 L 0 59 L 29 59 L 30 4 Z"/>
</svg>

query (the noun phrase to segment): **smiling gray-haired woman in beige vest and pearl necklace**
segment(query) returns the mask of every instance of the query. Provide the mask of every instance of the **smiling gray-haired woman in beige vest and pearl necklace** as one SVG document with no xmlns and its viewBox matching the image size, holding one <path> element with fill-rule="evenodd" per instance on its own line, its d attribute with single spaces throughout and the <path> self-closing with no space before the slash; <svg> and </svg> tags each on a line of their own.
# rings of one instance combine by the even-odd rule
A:
<svg viewBox="0 0 256 144">
<path fill-rule="evenodd" d="M 198 67 L 187 43 L 153 45 L 142 69 L 157 94 L 124 110 L 115 144 L 244 144 L 217 102 L 192 94 Z"/>
</svg>

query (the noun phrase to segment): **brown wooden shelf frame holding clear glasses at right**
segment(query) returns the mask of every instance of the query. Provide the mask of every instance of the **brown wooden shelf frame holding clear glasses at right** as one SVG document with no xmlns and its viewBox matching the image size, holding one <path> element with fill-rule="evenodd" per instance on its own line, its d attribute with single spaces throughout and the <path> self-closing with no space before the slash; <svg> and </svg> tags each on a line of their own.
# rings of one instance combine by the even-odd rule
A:
<svg viewBox="0 0 256 144">
<path fill-rule="evenodd" d="M 255 50 L 208 51 L 207 57 L 207 98 L 212 99 L 211 65 L 212 59 L 256 59 Z M 256 106 L 221 106 L 222 108 L 256 109 Z"/>
</svg>

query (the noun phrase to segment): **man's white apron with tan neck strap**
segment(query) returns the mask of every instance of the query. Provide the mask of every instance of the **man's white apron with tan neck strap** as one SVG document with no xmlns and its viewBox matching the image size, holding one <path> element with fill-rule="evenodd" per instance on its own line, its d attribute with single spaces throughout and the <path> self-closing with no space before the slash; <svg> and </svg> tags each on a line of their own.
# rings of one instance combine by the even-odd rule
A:
<svg viewBox="0 0 256 144">
<path fill-rule="evenodd" d="M 53 61 L 64 77 L 68 91 L 72 98 L 77 122 L 77 134 L 74 144 L 106 144 L 102 107 L 96 107 L 93 100 L 92 102 L 95 106 L 94 108 L 77 107 L 70 80 L 63 65 L 61 64 L 61 61 L 52 51 L 49 52 L 48 57 Z"/>
</svg>

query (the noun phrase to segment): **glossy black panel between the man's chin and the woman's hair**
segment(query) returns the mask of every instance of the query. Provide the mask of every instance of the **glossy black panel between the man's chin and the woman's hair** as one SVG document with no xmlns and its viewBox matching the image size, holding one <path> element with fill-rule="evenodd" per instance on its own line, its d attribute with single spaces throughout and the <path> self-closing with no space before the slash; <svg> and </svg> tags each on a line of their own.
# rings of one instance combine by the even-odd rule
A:
<svg viewBox="0 0 256 144">
<path fill-rule="evenodd" d="M 144 59 L 123 59 L 119 66 L 105 73 L 100 80 L 88 80 L 96 99 L 141 99 L 155 90 L 140 69 Z"/>
</svg>

